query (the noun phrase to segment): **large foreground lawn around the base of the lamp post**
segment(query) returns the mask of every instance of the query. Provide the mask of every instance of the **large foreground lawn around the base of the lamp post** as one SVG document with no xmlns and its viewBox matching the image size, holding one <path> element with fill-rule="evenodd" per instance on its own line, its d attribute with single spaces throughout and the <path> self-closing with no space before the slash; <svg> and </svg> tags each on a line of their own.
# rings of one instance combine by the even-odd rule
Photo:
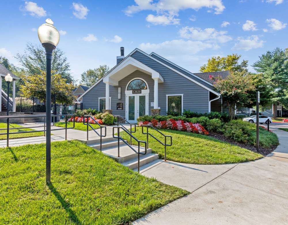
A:
<svg viewBox="0 0 288 225">
<path fill-rule="evenodd" d="M 0 224 L 126 224 L 189 192 L 147 178 L 79 141 L 0 148 Z"/>
</svg>

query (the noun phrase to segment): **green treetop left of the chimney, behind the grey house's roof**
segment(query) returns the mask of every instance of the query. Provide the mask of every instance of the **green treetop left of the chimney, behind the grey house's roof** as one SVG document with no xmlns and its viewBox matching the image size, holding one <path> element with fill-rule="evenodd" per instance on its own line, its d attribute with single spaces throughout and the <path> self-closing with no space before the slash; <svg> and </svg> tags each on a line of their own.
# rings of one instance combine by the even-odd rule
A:
<svg viewBox="0 0 288 225">
<path fill-rule="evenodd" d="M 85 86 L 92 86 L 99 79 L 101 79 L 107 72 L 110 70 L 107 65 L 100 65 L 98 68 L 94 70 L 87 70 L 81 74 L 81 83 Z"/>
</svg>

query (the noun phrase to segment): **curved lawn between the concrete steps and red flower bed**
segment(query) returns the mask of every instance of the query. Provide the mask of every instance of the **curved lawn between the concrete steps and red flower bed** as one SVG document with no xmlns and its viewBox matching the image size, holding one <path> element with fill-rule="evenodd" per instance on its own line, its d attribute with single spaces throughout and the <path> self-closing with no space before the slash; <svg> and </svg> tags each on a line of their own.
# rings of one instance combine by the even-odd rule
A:
<svg viewBox="0 0 288 225">
<path fill-rule="evenodd" d="M 156 138 L 164 143 L 164 137 L 158 132 L 149 130 Z M 247 149 L 231 145 L 215 138 L 204 136 L 202 134 L 187 133 L 175 130 L 161 130 L 165 135 L 173 138 L 173 145 L 167 147 L 166 159 L 174 162 L 192 163 L 192 164 L 226 164 L 247 162 L 262 158 L 263 156 Z M 130 140 L 124 132 L 121 136 Z M 136 133 L 133 134 L 138 140 L 146 140 L 142 134 L 142 129 L 137 127 Z M 167 138 L 169 142 L 170 138 Z M 132 144 L 136 141 L 132 139 Z M 149 148 L 154 153 L 158 153 L 164 158 L 164 146 L 158 143 L 154 138 L 149 136 Z"/>
</svg>

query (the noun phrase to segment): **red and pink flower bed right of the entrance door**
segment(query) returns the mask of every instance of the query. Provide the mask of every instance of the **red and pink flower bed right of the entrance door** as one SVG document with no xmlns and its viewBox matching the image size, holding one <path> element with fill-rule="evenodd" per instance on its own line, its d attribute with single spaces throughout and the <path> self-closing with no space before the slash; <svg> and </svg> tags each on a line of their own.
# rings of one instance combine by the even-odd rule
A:
<svg viewBox="0 0 288 225">
<path fill-rule="evenodd" d="M 140 121 L 138 125 L 139 127 L 142 127 L 142 125 L 151 125 L 157 129 L 179 130 L 189 133 L 209 135 L 209 133 L 200 123 L 190 123 L 183 120 L 168 119 L 159 122 L 156 119 L 152 119 L 150 122 Z"/>
</svg>

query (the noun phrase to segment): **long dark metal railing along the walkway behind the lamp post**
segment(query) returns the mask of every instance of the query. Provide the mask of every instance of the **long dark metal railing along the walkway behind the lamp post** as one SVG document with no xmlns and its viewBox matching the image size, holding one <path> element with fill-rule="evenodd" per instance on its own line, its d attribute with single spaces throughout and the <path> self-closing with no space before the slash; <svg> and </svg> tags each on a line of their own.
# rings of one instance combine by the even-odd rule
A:
<svg viewBox="0 0 288 225">
<path fill-rule="evenodd" d="M 58 117 L 58 116 L 65 116 L 65 128 L 57 128 L 57 129 L 52 129 L 52 130 L 64 130 L 65 129 L 65 140 L 67 140 L 67 129 L 73 129 L 75 128 L 75 121 L 73 119 L 73 127 L 69 127 L 67 128 L 67 116 L 73 116 L 73 118 L 75 117 L 75 115 L 73 114 L 63 114 L 63 115 L 51 115 L 52 117 Z M 20 128 L 10 128 L 10 118 L 38 118 L 38 117 L 44 117 L 44 130 L 31 130 L 31 131 L 19 131 L 19 132 L 9 132 L 9 130 L 14 130 L 14 129 L 27 129 L 27 128 L 38 128 L 38 127 L 42 127 L 42 126 L 37 126 L 37 127 L 20 127 Z M 0 116 L 0 119 L 7 119 L 7 128 L 1 128 L 0 130 L 7 130 L 6 133 L 0 133 L 0 135 L 7 135 L 7 147 L 9 147 L 9 134 L 24 134 L 24 133 L 33 133 L 33 132 L 44 132 L 44 136 L 45 136 L 45 132 L 46 130 L 46 115 L 23 115 L 23 116 Z M 51 121 L 51 119 L 50 119 Z M 51 123 L 51 122 L 50 122 Z M 51 131 L 52 131 L 51 130 Z"/>
</svg>

